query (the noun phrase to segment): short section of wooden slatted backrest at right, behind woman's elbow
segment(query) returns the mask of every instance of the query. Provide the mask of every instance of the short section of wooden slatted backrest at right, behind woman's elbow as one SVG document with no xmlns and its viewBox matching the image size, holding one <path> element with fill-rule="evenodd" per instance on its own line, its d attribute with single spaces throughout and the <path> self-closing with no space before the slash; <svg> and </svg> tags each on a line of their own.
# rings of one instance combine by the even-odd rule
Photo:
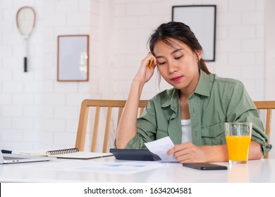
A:
<svg viewBox="0 0 275 197">
<path fill-rule="evenodd" d="M 271 115 L 272 110 L 275 109 L 275 101 L 254 101 L 255 106 L 258 110 L 266 110 L 266 123 L 265 123 L 265 134 L 269 136 L 269 141 L 267 144 L 270 144 L 270 132 L 271 132 Z M 264 158 L 269 158 L 269 153 L 264 155 Z"/>
</svg>

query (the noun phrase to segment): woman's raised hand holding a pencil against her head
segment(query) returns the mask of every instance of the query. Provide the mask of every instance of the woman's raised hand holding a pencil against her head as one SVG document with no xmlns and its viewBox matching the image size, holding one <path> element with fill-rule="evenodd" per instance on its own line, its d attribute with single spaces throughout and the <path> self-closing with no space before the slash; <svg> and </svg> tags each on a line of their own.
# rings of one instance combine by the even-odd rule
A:
<svg viewBox="0 0 275 197">
<path fill-rule="evenodd" d="M 149 68 L 149 62 L 151 58 L 154 58 L 154 61 L 152 63 L 152 66 Z M 154 74 L 154 68 L 156 67 L 156 65 L 156 58 L 152 55 L 152 53 L 149 52 L 147 56 L 141 61 L 140 68 L 135 74 L 134 81 L 141 82 L 142 84 L 148 82 Z"/>
</svg>

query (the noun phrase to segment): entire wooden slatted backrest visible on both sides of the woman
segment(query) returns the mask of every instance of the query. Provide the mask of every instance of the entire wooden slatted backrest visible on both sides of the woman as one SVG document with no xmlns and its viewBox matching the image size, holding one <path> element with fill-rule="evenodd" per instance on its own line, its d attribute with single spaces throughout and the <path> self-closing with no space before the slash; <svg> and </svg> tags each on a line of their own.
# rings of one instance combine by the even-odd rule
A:
<svg viewBox="0 0 275 197">
<path fill-rule="evenodd" d="M 91 152 L 95 151 L 96 145 L 97 145 L 97 134 L 99 129 L 99 117 L 100 112 L 102 108 L 107 109 L 106 114 L 106 123 L 105 123 L 105 131 L 104 131 L 104 142 L 103 142 L 103 148 L 102 152 L 106 153 L 108 141 L 109 141 L 109 130 L 110 130 L 110 124 L 111 124 L 111 115 L 112 115 L 112 109 L 118 108 L 118 115 L 117 115 L 117 122 L 116 126 L 118 125 L 118 122 L 121 118 L 121 114 L 123 112 L 123 108 L 125 106 L 126 101 L 125 100 L 93 100 L 93 99 L 85 99 L 82 101 L 81 108 L 80 108 L 80 117 L 78 122 L 78 133 L 75 140 L 75 147 L 78 148 L 80 151 L 84 151 L 85 147 L 85 141 L 86 141 L 86 133 L 87 133 L 87 122 L 89 120 L 89 111 L 90 108 L 94 107 L 96 108 L 95 114 L 94 114 L 94 127 L 92 132 L 92 143 L 91 143 Z M 142 100 L 139 103 L 139 115 L 142 115 L 143 110 L 145 106 L 147 106 L 148 101 Z M 265 133 L 267 136 L 269 136 L 269 141 L 267 144 L 270 144 L 270 132 L 271 132 L 271 115 L 272 110 L 275 109 L 275 101 L 255 101 L 255 106 L 258 110 L 267 110 L 266 114 L 266 124 L 265 124 Z M 265 154 L 264 158 L 269 158 L 269 154 Z"/>
</svg>

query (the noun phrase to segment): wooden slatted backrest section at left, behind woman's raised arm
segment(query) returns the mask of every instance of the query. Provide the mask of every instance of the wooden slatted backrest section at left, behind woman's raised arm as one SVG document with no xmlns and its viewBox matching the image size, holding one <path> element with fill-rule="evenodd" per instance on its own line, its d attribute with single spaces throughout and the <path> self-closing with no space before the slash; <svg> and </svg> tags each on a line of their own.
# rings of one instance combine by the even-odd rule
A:
<svg viewBox="0 0 275 197">
<path fill-rule="evenodd" d="M 145 106 L 147 106 L 148 101 L 142 100 L 139 103 L 139 115 L 142 115 Z M 111 117 L 112 117 L 112 110 L 114 108 L 118 108 L 118 115 L 117 115 L 117 122 L 121 118 L 121 114 L 123 112 L 123 108 L 126 104 L 126 101 L 121 100 L 92 100 L 92 99 L 85 99 L 82 101 L 81 108 L 80 108 L 80 117 L 78 122 L 78 133 L 75 140 L 75 147 L 78 148 L 80 151 L 84 151 L 85 148 L 85 141 L 86 141 L 86 133 L 87 133 L 87 123 L 88 123 L 88 116 L 90 108 L 95 108 L 94 113 L 94 127 L 92 131 L 92 142 L 91 142 L 91 152 L 95 152 L 97 146 L 97 134 L 99 130 L 99 120 L 100 120 L 100 112 L 105 108 L 107 110 L 106 113 L 106 123 L 105 123 L 105 131 L 104 131 L 104 141 L 103 141 L 103 148 L 102 153 L 107 152 L 108 141 L 109 141 L 109 130 L 111 124 Z"/>
</svg>

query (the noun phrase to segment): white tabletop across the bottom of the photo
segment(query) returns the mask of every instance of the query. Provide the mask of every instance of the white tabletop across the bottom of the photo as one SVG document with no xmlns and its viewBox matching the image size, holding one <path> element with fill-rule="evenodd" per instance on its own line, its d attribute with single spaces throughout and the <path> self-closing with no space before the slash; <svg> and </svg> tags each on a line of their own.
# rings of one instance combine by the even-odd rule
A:
<svg viewBox="0 0 275 197">
<path fill-rule="evenodd" d="M 116 160 L 111 156 L 81 161 L 56 159 L 39 163 L 5 164 L 0 165 L 0 182 L 275 182 L 275 159 L 249 160 L 247 164 L 239 165 L 216 163 L 226 165 L 228 170 L 195 170 L 183 167 L 181 163 L 161 163 L 161 167 L 135 173 L 100 172 L 89 169 L 68 170 L 79 162 L 89 166 L 94 163 L 119 164 L 129 161 Z M 153 164 L 159 165 L 155 162 L 149 165 Z M 68 168 L 70 165 L 71 168 Z"/>
</svg>

